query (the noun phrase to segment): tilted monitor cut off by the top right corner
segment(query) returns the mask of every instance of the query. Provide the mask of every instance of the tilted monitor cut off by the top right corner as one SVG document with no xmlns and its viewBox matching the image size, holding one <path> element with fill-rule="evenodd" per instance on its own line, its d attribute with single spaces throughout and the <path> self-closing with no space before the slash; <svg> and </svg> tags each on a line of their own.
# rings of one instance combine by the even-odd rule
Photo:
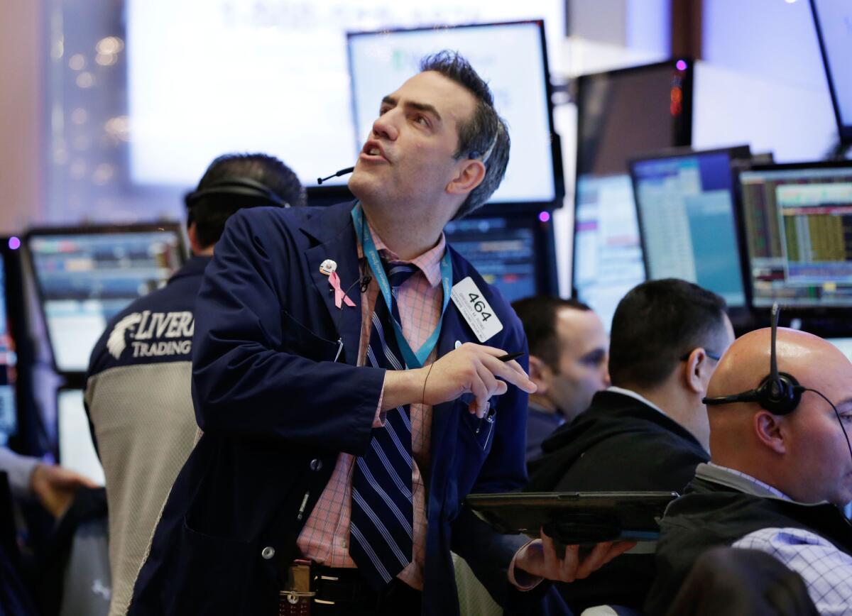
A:
<svg viewBox="0 0 852 616">
<path fill-rule="evenodd" d="M 828 89 L 832 93 L 838 132 L 844 143 L 852 143 L 852 3 L 849 0 L 810 0 Z"/>
</svg>

